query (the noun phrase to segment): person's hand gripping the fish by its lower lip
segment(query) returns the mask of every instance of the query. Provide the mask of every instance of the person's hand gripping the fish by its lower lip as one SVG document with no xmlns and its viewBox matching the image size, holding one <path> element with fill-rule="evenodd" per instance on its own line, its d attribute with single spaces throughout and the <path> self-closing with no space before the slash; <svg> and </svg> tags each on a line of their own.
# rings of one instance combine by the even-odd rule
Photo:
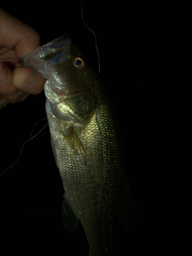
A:
<svg viewBox="0 0 192 256">
<path fill-rule="evenodd" d="M 38 46 L 36 30 L 0 8 L 0 109 L 44 90 L 46 79 L 19 63 Z"/>
</svg>

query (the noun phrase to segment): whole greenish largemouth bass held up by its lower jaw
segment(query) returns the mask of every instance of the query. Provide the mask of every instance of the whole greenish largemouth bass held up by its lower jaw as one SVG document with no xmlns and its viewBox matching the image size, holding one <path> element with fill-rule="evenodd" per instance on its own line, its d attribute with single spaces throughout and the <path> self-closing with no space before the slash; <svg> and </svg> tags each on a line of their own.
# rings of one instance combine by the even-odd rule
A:
<svg viewBox="0 0 192 256">
<path fill-rule="evenodd" d="M 80 221 L 89 256 L 113 256 L 114 218 L 133 229 L 137 210 L 122 170 L 122 139 L 108 91 L 68 33 L 19 62 L 47 79 L 51 145 L 65 189 L 63 228 L 74 232 Z"/>
</svg>

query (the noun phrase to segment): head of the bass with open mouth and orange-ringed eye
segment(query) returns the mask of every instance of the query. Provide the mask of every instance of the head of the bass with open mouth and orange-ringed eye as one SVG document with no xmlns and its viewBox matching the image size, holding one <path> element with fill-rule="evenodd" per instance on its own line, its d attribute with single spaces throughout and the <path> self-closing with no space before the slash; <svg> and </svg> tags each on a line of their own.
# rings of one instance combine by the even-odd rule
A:
<svg viewBox="0 0 192 256">
<path fill-rule="evenodd" d="M 98 103 L 99 78 L 69 34 L 38 47 L 19 61 L 44 76 L 45 94 L 58 119 L 88 123 Z"/>
</svg>

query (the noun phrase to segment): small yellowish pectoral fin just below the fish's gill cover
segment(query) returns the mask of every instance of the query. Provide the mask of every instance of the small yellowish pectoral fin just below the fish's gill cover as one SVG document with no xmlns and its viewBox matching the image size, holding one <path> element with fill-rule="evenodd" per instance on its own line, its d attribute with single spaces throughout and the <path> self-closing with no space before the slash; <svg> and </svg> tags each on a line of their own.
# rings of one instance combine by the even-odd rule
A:
<svg viewBox="0 0 192 256">
<path fill-rule="evenodd" d="M 77 134 L 73 129 L 73 125 L 70 125 L 67 130 L 63 131 L 61 129 L 62 135 L 67 140 L 68 144 L 71 146 L 72 151 L 79 161 L 83 165 L 87 165 L 86 153 L 84 151 L 83 145 Z"/>
</svg>

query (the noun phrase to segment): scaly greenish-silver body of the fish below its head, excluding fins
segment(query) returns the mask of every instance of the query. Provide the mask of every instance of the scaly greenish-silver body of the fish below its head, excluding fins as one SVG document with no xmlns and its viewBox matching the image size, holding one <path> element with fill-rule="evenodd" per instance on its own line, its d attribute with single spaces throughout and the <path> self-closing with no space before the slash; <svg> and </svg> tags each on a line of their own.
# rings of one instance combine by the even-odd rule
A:
<svg viewBox="0 0 192 256">
<path fill-rule="evenodd" d="M 69 150 L 65 138 L 57 129 L 58 124 L 52 120 L 48 104 L 47 101 L 47 116 L 63 187 L 67 199 L 86 232 L 90 255 L 107 255 L 106 248 L 112 255 L 111 222 L 112 213 L 115 210 L 114 198 L 119 196 L 117 186 L 122 185 L 121 157 L 118 151 L 119 136 L 112 121 L 112 106 L 111 104 L 109 106 L 109 102 L 106 104 L 101 101 L 100 108 L 95 112 L 90 123 L 83 125 L 80 132 L 76 131 L 86 151 L 87 165 L 85 166 L 80 165 L 73 152 Z M 106 111 L 108 115 L 105 114 Z M 103 132 L 107 135 L 105 136 Z M 63 146 L 60 146 L 61 144 Z M 115 150 L 112 150 L 113 146 Z M 110 163 L 112 159 L 113 162 Z M 102 218 L 99 218 L 99 215 Z M 104 219 L 103 216 L 105 216 Z M 106 242 L 103 241 L 105 239 Z M 96 241 L 99 242 L 96 243 Z M 105 254 L 101 254 L 101 248 Z"/>
</svg>

